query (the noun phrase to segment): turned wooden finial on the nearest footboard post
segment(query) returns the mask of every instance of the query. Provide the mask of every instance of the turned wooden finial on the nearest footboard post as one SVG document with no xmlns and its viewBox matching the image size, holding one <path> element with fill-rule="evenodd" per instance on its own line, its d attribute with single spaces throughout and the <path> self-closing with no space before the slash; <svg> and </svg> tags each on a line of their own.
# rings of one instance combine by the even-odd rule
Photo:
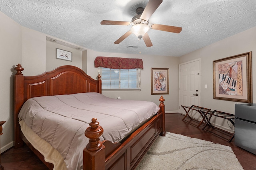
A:
<svg viewBox="0 0 256 170">
<path fill-rule="evenodd" d="M 99 122 L 96 118 L 92 118 L 92 122 L 89 123 L 90 127 L 84 132 L 85 136 L 88 137 L 89 143 L 86 148 L 90 151 L 98 150 L 102 147 L 102 142 L 100 141 L 100 136 L 103 133 L 103 128 L 99 126 Z"/>
</svg>

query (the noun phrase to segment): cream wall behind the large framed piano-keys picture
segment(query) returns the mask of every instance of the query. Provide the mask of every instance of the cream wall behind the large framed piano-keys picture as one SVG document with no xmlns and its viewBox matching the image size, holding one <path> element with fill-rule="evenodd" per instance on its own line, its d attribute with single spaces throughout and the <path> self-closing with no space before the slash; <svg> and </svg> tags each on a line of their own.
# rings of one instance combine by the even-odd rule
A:
<svg viewBox="0 0 256 170">
<path fill-rule="evenodd" d="M 256 27 L 179 57 L 179 63 L 201 58 L 200 106 L 234 114 L 234 104 L 238 102 L 213 99 L 213 61 L 250 51 L 252 51 L 252 89 L 253 94 L 255 94 Z M 208 85 L 207 89 L 204 88 L 205 84 Z M 253 95 L 253 101 L 254 103 L 256 102 L 256 95 Z M 223 120 L 220 119 L 216 120 L 216 124 L 226 126 Z M 227 129 L 230 128 L 227 127 Z"/>
</svg>

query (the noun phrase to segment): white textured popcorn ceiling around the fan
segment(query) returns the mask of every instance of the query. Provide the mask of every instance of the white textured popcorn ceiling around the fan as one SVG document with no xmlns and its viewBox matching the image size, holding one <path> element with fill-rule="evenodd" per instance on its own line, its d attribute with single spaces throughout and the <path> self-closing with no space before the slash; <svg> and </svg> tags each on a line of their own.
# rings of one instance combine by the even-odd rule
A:
<svg viewBox="0 0 256 170">
<path fill-rule="evenodd" d="M 147 3 L 148 0 L 0 0 L 0 11 L 24 27 L 86 49 L 174 57 L 256 26 L 256 0 L 163 0 L 149 23 L 182 27 L 180 33 L 150 29 L 152 47 L 146 47 L 134 34 L 114 44 L 131 26 L 100 25 L 100 21 L 131 21 L 136 8 Z"/>
</svg>

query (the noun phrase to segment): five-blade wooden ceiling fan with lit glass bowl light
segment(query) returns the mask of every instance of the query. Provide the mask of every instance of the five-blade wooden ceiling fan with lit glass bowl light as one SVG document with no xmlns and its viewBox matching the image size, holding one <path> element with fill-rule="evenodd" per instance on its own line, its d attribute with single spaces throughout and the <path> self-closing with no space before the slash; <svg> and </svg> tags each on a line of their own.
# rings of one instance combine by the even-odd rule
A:
<svg viewBox="0 0 256 170">
<path fill-rule="evenodd" d="M 151 47 L 153 44 L 148 36 L 147 31 L 149 29 L 156 29 L 160 31 L 168 31 L 173 33 L 180 33 L 182 27 L 174 27 L 169 25 L 161 25 L 161 24 L 148 24 L 149 18 L 156 11 L 158 6 L 162 3 L 162 0 L 149 0 L 145 9 L 142 7 L 138 7 L 136 9 L 137 15 L 132 18 L 132 21 L 109 21 L 103 20 L 100 22 L 101 25 L 133 25 L 130 31 L 127 31 L 124 35 L 122 35 L 118 40 L 114 43 L 119 44 L 124 39 L 126 39 L 129 35 L 134 33 L 139 39 L 143 39 L 147 47 Z"/>
</svg>

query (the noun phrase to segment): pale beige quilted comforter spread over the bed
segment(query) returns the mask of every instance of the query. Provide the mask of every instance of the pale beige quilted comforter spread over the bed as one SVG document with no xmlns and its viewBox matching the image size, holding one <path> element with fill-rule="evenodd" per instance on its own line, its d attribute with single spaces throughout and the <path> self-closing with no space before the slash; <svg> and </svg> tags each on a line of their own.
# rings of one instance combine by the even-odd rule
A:
<svg viewBox="0 0 256 170">
<path fill-rule="evenodd" d="M 68 170 L 80 170 L 82 151 L 88 143 L 84 131 L 93 117 L 104 129 L 101 140 L 118 142 L 158 109 L 153 102 L 79 93 L 31 98 L 23 105 L 19 118 L 60 152 Z"/>
</svg>

